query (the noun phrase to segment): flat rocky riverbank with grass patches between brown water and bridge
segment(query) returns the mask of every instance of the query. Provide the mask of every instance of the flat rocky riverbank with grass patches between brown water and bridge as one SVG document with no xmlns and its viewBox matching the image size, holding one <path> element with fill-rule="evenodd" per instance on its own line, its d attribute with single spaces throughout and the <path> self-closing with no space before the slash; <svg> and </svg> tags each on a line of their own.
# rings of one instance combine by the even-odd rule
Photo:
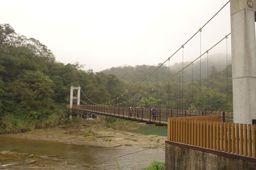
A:
<svg viewBox="0 0 256 170">
<path fill-rule="evenodd" d="M 97 121 L 100 122 L 99 119 Z M 137 125 L 133 129 L 140 128 L 140 126 L 143 125 Z M 86 144 L 102 147 L 110 147 L 109 143 L 114 147 L 120 145 L 152 147 L 164 144 L 167 139 L 167 137 L 157 135 L 147 136 L 132 132 L 114 130 L 104 125 L 101 125 L 101 127 L 93 120 L 86 120 L 79 124 L 63 124 L 52 128 L 35 129 L 23 133 L 4 134 L 0 135 L 0 137 L 48 140 L 66 144 Z M 129 127 L 124 127 L 124 129 L 127 128 Z"/>
</svg>

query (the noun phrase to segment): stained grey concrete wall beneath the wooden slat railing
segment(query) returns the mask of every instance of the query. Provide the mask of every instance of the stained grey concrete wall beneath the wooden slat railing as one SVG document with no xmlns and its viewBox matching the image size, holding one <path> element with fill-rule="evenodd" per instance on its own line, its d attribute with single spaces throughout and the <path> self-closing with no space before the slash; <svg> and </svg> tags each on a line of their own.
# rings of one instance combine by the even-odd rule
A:
<svg viewBox="0 0 256 170">
<path fill-rule="evenodd" d="M 165 142 L 165 169 L 166 170 L 255 170 L 256 163 L 220 156 Z M 190 145 L 189 145 L 190 146 Z M 218 152 L 218 151 L 215 151 Z M 222 152 L 223 153 L 223 152 Z M 248 158 L 248 157 L 246 157 Z M 253 158 L 252 158 L 253 159 Z M 255 159 L 256 160 L 256 159 Z"/>
</svg>

